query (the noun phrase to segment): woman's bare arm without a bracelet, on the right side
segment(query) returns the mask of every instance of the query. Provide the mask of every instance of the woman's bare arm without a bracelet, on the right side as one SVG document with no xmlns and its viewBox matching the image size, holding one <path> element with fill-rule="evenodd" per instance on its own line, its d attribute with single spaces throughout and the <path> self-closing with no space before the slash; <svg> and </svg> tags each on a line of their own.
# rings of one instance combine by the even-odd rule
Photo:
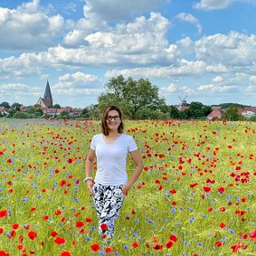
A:
<svg viewBox="0 0 256 256">
<path fill-rule="evenodd" d="M 132 173 L 131 179 L 128 180 L 128 182 L 122 188 L 124 195 L 126 195 L 128 193 L 128 191 L 130 190 L 130 188 L 132 188 L 132 185 L 135 183 L 135 181 L 138 180 L 138 178 L 140 177 L 140 173 L 142 172 L 143 167 L 144 167 L 142 158 L 139 154 L 138 149 L 132 151 L 130 154 L 132 156 L 132 160 L 136 164 L 136 168 L 135 168 L 134 172 Z"/>
</svg>

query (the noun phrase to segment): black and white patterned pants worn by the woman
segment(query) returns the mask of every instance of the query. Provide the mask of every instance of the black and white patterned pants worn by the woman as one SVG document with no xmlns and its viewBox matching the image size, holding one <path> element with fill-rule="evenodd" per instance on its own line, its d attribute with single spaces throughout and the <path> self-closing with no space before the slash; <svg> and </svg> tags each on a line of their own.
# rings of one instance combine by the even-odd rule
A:
<svg viewBox="0 0 256 256">
<path fill-rule="evenodd" d="M 103 186 L 94 183 L 92 187 L 95 193 L 93 201 L 99 220 L 99 233 L 106 243 L 114 236 L 115 221 L 124 203 L 122 186 Z"/>
</svg>

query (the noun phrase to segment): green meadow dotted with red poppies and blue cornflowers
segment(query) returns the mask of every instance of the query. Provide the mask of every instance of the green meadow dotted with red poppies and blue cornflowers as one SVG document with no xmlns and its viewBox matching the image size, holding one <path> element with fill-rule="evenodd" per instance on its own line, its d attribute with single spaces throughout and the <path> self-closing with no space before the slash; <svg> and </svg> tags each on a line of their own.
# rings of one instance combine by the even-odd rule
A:
<svg viewBox="0 0 256 256">
<path fill-rule="evenodd" d="M 99 132 L 0 120 L 0 256 L 256 255 L 255 123 L 125 121 L 145 167 L 108 247 L 83 182 Z"/>
</svg>

